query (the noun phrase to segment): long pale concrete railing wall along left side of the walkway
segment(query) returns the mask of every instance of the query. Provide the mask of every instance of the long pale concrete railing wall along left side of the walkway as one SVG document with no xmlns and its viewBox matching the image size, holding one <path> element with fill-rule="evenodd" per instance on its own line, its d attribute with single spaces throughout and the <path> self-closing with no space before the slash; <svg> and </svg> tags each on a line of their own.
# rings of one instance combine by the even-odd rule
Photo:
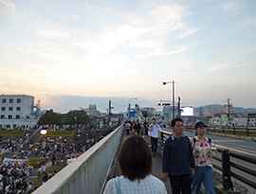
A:
<svg viewBox="0 0 256 194">
<path fill-rule="evenodd" d="M 99 194 L 119 146 L 122 125 L 36 189 L 33 194 Z"/>
</svg>

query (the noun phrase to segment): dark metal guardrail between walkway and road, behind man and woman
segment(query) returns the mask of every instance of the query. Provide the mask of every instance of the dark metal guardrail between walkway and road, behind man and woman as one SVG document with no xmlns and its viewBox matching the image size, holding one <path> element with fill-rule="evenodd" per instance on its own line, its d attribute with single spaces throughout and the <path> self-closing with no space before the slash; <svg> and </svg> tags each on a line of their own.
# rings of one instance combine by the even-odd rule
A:
<svg viewBox="0 0 256 194">
<path fill-rule="evenodd" d="M 161 131 L 161 139 L 163 140 L 163 143 L 169 136 L 173 134 L 173 132 L 165 132 Z M 217 148 L 219 152 L 222 153 L 222 157 L 213 155 L 213 158 L 217 161 L 220 161 L 222 163 L 222 166 L 214 163 L 213 161 L 213 167 L 218 168 L 219 170 L 222 171 L 222 176 L 223 176 L 223 188 L 226 191 L 233 190 L 233 185 L 231 183 L 231 176 L 238 179 L 239 181 L 250 185 L 254 188 L 256 188 L 256 183 L 249 180 L 247 177 L 238 174 L 236 172 L 233 172 L 230 170 L 230 167 L 232 168 L 237 168 L 239 170 L 242 170 L 243 172 L 250 174 L 256 178 L 256 170 L 252 168 L 248 168 L 244 165 L 238 164 L 236 162 L 230 161 L 230 156 L 234 158 L 238 158 L 240 160 L 246 161 L 251 164 L 256 164 L 256 155 L 252 153 L 248 153 L 246 151 L 241 151 L 241 150 L 235 150 L 235 149 L 230 149 L 225 146 L 220 146 L 217 144 L 214 144 L 214 146 Z"/>
</svg>

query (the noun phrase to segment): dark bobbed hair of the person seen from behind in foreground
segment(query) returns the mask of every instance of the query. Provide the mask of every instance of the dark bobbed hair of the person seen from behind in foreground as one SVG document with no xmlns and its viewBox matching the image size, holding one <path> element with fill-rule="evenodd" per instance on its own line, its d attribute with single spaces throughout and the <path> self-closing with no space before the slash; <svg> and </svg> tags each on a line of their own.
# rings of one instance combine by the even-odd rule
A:
<svg viewBox="0 0 256 194">
<path fill-rule="evenodd" d="M 119 152 L 121 174 L 131 181 L 144 179 L 152 172 L 152 154 L 147 142 L 141 136 L 130 136 Z"/>
</svg>

